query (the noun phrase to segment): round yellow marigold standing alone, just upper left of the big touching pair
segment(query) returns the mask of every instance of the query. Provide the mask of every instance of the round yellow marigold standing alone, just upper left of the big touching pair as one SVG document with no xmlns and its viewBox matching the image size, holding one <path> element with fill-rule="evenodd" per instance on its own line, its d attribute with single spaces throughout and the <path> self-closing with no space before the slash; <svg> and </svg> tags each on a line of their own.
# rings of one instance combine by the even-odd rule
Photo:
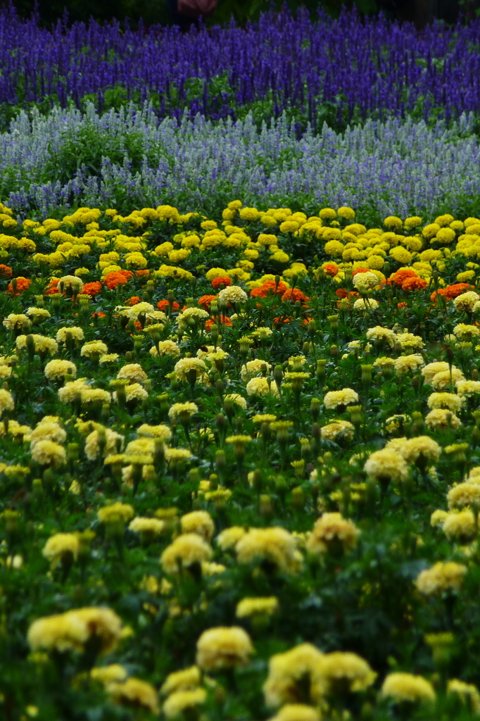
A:
<svg viewBox="0 0 480 721">
<path fill-rule="evenodd" d="M 197 665 L 204 671 L 247 665 L 252 653 L 249 634 L 237 626 L 208 629 L 197 641 Z"/>
</svg>

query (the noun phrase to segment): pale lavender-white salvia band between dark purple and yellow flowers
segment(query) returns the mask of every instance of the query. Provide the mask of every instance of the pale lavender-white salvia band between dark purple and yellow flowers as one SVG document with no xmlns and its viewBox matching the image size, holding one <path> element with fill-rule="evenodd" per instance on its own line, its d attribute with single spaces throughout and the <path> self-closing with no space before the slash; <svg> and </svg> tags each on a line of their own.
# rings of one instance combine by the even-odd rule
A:
<svg viewBox="0 0 480 721">
<path fill-rule="evenodd" d="M 388 120 L 345 133 L 324 126 L 298 138 L 283 116 L 258 131 L 237 123 L 167 118 L 132 107 L 100 117 L 93 105 L 49 116 L 21 114 L 0 136 L 0 200 L 17 213 L 71 205 L 169 203 L 220 214 L 232 197 L 249 205 L 351 205 L 363 222 L 449 211 L 480 213 L 480 146 L 475 117 Z M 59 214 L 60 213 L 60 214 Z"/>
</svg>

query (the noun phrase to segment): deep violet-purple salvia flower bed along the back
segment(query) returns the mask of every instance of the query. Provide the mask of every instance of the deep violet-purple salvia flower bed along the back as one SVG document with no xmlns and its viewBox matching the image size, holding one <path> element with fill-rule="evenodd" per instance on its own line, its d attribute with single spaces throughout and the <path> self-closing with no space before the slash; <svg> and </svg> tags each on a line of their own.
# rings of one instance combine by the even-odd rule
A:
<svg viewBox="0 0 480 721">
<path fill-rule="evenodd" d="M 99 110 L 151 99 L 160 117 L 187 108 L 218 120 L 295 113 L 303 125 L 390 115 L 435 121 L 479 110 L 480 21 L 425 32 L 386 19 L 343 13 L 311 21 L 306 12 L 262 14 L 244 29 L 215 27 L 182 35 L 153 26 L 48 30 L 13 12 L 0 18 L 0 107 L 55 103 Z M 254 48 L 254 50 L 253 50 Z"/>
</svg>

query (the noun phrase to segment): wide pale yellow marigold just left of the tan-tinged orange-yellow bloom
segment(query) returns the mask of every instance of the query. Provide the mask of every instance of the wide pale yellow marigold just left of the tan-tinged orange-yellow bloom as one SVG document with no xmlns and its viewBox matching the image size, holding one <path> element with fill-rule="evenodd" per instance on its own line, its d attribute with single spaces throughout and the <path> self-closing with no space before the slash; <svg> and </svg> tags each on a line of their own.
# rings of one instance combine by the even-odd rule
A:
<svg viewBox="0 0 480 721">
<path fill-rule="evenodd" d="M 257 562 L 266 570 L 273 566 L 280 571 L 296 573 L 301 568 L 302 557 L 295 539 L 285 528 L 250 528 L 236 543 L 239 563 Z"/>
</svg>

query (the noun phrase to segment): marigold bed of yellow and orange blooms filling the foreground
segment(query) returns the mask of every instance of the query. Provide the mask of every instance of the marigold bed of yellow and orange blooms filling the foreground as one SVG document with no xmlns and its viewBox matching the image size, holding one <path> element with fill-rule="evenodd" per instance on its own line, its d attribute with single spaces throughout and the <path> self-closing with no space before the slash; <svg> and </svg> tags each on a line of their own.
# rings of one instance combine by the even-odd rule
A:
<svg viewBox="0 0 480 721">
<path fill-rule="evenodd" d="M 480 219 L 0 207 L 6 719 L 480 710 Z"/>
</svg>

